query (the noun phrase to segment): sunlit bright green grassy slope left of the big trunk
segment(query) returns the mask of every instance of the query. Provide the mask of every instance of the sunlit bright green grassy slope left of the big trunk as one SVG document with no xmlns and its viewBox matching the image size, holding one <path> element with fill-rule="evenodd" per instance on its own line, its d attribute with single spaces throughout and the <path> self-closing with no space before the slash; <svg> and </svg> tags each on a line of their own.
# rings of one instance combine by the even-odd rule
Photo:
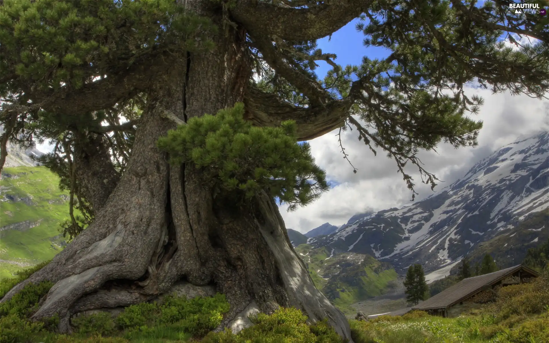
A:
<svg viewBox="0 0 549 343">
<path fill-rule="evenodd" d="M 63 249 L 58 229 L 69 213 L 69 195 L 46 167 L 4 168 L 0 187 L 0 278 L 6 278 Z"/>
</svg>

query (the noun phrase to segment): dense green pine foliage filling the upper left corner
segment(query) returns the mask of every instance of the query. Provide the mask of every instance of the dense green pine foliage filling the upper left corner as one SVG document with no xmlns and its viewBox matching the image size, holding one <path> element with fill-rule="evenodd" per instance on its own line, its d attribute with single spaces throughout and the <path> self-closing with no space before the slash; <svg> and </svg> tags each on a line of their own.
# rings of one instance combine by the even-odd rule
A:
<svg viewBox="0 0 549 343">
<path fill-rule="evenodd" d="M 192 48 L 207 20 L 183 10 L 171 1 L 6 1 L 0 69 L 16 77 L 0 94 L 78 89 L 167 48 Z"/>
</svg>

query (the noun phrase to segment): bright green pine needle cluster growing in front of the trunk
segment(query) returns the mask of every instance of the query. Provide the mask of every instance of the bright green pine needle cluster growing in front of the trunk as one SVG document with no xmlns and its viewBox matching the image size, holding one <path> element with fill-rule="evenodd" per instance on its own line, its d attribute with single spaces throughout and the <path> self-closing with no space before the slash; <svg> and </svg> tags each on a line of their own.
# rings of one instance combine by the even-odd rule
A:
<svg viewBox="0 0 549 343">
<path fill-rule="evenodd" d="M 158 141 L 170 163 L 192 163 L 214 192 L 251 198 L 261 190 L 292 211 L 329 189 L 326 172 L 315 164 L 307 142 L 296 142 L 297 126 L 254 127 L 243 119 L 244 105 L 189 119 Z M 240 191 L 240 192 L 238 192 Z"/>
</svg>

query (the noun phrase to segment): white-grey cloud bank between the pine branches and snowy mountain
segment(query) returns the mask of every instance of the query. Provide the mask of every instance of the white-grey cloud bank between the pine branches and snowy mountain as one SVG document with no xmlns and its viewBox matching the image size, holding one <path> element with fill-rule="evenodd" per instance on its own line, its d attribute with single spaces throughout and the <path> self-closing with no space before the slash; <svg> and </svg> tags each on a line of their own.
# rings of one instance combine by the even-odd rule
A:
<svg viewBox="0 0 549 343">
<path fill-rule="evenodd" d="M 434 173 L 441 181 L 434 193 L 450 185 L 467 173 L 477 161 L 486 158 L 502 145 L 513 142 L 520 136 L 530 136 L 541 130 L 549 130 L 549 101 L 532 99 L 527 95 L 509 93 L 492 94 L 488 89 L 470 86 L 468 95 L 478 94 L 484 98 L 478 115 L 474 119 L 482 120 L 484 127 L 480 130 L 479 145 L 475 148 L 455 149 L 450 144 L 440 144 L 437 151 L 422 151 L 419 156 L 424 167 Z M 281 212 L 288 228 L 307 232 L 325 222 L 340 225 L 352 215 L 369 209 L 376 211 L 401 207 L 411 204 L 411 192 L 406 188 L 402 175 L 397 173 L 393 160 L 380 150 L 377 156 L 357 139 L 356 131 L 346 131 L 342 140 L 349 159 L 357 168 L 352 167 L 341 155 L 337 131 L 310 141 L 312 154 L 317 164 L 327 172 L 328 179 L 334 182 L 328 193 L 315 203 L 287 212 L 282 205 Z M 421 200 L 433 191 L 429 185 L 421 183 L 419 173 L 408 168 L 416 184 Z"/>
</svg>

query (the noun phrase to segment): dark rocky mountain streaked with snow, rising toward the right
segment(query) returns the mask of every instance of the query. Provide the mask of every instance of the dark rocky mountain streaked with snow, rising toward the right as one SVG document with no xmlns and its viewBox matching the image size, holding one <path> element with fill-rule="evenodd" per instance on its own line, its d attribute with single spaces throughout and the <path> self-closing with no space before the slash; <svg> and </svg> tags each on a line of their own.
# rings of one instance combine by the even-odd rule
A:
<svg viewBox="0 0 549 343">
<path fill-rule="evenodd" d="M 370 254 L 397 269 L 433 271 L 549 207 L 549 133 L 517 140 L 436 195 L 402 209 L 356 215 L 307 243 Z"/>
</svg>

